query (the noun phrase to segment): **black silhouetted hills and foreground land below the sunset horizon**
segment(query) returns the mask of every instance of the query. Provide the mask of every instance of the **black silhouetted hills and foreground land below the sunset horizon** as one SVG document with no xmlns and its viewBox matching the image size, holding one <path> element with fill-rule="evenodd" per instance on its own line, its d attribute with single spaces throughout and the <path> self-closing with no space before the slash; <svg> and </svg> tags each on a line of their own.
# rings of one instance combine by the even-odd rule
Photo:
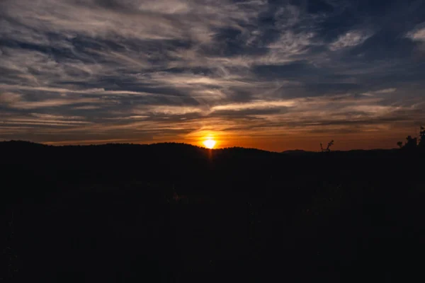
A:
<svg viewBox="0 0 425 283">
<path fill-rule="evenodd" d="M 423 281 L 424 167 L 397 150 L 0 143 L 0 278 Z"/>
</svg>

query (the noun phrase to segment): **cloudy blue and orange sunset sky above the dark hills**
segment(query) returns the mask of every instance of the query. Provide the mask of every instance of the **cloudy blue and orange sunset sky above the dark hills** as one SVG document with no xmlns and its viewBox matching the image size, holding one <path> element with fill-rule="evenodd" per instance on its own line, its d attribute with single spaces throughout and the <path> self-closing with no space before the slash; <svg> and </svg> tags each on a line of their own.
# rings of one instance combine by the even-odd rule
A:
<svg viewBox="0 0 425 283">
<path fill-rule="evenodd" d="M 394 148 L 424 74 L 425 1 L 0 1 L 0 140 Z"/>
</svg>

